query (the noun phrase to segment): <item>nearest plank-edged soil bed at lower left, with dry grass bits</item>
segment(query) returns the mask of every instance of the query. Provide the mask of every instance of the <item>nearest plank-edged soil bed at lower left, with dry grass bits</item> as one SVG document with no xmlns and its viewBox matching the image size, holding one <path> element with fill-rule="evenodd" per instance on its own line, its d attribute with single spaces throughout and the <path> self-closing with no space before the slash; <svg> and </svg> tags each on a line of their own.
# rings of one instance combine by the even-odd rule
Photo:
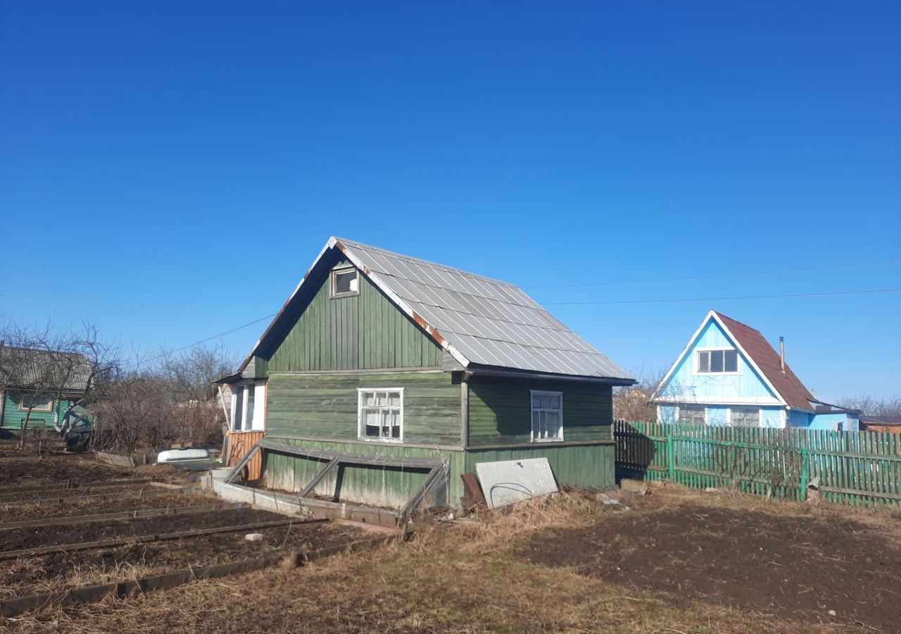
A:
<svg viewBox="0 0 901 634">
<path fill-rule="evenodd" d="M 299 521 L 299 519 L 298 519 Z M 263 528 L 260 541 L 243 533 L 222 533 L 126 547 L 23 557 L 0 566 L 0 597 L 61 590 L 90 583 L 162 574 L 189 566 L 219 564 L 248 557 L 314 550 L 371 537 L 359 528 L 302 524 Z"/>
</svg>

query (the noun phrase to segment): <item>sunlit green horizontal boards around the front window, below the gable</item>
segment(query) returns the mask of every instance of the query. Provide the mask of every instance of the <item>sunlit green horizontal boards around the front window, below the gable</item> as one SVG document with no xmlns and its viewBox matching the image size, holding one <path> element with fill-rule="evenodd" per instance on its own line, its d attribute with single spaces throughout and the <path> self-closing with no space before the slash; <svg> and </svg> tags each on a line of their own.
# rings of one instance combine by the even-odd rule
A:
<svg viewBox="0 0 901 634">
<path fill-rule="evenodd" d="M 358 388 L 405 388 L 405 443 L 460 445 L 460 384 L 453 382 L 448 372 L 272 373 L 267 389 L 267 435 L 357 440 Z"/>
</svg>

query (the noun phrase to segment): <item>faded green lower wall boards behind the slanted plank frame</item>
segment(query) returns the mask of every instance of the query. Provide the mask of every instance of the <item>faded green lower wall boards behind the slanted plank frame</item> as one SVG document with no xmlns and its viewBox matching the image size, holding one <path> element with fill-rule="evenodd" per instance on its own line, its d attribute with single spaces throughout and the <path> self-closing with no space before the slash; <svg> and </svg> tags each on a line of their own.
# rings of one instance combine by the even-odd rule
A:
<svg viewBox="0 0 901 634">
<path fill-rule="evenodd" d="M 460 483 L 460 473 L 463 468 L 462 451 L 374 443 L 305 441 L 272 434 L 268 434 L 267 437 L 279 442 L 332 449 L 349 454 L 441 457 L 447 464 L 447 478 L 441 479 L 441 484 L 434 488 L 427 499 L 427 504 L 430 506 L 460 506 L 460 496 L 463 494 Z M 296 455 L 271 453 L 266 459 L 266 484 L 280 491 L 299 492 L 324 465 L 323 462 L 300 458 Z M 315 494 L 332 497 L 340 481 L 338 490 L 340 501 L 400 509 L 422 485 L 426 473 L 427 471 L 423 470 L 398 468 L 347 467 L 336 470 L 323 478 L 323 482 L 316 487 Z"/>
</svg>

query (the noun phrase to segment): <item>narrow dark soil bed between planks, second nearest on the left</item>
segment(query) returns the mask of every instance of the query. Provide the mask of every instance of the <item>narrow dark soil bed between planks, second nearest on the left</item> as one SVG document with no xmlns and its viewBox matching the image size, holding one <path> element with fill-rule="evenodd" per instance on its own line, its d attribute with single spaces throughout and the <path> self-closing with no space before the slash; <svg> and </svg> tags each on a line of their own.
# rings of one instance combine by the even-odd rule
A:
<svg viewBox="0 0 901 634">
<path fill-rule="evenodd" d="M 5 530 L 3 550 L 23 550 L 45 546 L 63 546 L 103 539 L 132 538 L 160 533 L 175 533 L 195 528 L 220 528 L 286 519 L 268 510 L 250 508 L 214 510 L 189 515 L 169 515 L 119 521 L 92 522 L 75 527 L 30 527 Z"/>
</svg>

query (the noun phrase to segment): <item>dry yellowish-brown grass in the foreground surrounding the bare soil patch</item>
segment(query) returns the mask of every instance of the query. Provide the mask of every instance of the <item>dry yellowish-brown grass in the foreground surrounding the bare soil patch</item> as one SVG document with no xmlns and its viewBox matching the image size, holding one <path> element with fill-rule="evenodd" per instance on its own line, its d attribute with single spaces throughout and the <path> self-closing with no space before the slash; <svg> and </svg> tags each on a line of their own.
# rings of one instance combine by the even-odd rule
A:
<svg viewBox="0 0 901 634">
<path fill-rule="evenodd" d="M 887 527 L 888 512 L 809 509 L 750 496 L 667 487 L 630 513 L 709 504 L 774 514 L 840 513 Z M 575 494 L 532 501 L 480 522 L 418 527 L 412 544 L 334 556 L 298 570 L 204 581 L 127 601 L 8 620 L 21 631 L 66 632 L 588 632 L 800 634 L 872 631 L 784 620 L 711 603 L 676 606 L 664 595 L 606 583 L 565 567 L 524 563 L 514 549 L 536 532 L 590 525 L 622 510 Z M 897 526 L 894 527 L 897 531 Z"/>
</svg>

